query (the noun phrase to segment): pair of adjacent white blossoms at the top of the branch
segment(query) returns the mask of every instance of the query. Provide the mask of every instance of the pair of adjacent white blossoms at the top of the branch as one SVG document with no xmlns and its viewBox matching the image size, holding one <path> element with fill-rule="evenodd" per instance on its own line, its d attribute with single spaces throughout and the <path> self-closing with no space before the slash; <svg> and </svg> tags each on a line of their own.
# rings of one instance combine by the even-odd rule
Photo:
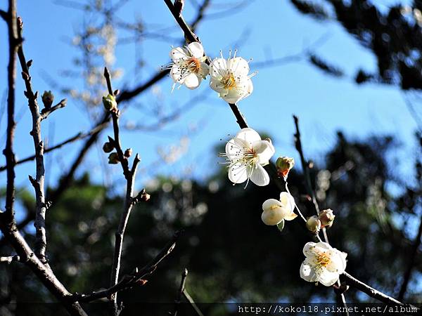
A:
<svg viewBox="0 0 422 316">
<path fill-rule="evenodd" d="M 250 96 L 253 91 L 252 80 L 255 73 L 249 74 L 249 63 L 241 57 L 233 56 L 225 59 L 210 60 L 203 46 L 193 42 L 185 47 L 172 48 L 170 51 L 172 63 L 168 66 L 170 77 L 173 79 L 173 89 L 179 84 L 189 89 L 200 86 L 203 79 L 210 76 L 210 87 L 217 91 L 227 103 L 237 103 Z"/>
</svg>

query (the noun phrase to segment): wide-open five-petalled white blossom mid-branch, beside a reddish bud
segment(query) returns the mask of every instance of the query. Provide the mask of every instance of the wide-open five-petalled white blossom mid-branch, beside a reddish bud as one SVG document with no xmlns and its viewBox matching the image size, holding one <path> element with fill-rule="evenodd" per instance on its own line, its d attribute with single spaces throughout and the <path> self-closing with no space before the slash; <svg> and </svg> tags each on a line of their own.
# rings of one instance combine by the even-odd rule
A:
<svg viewBox="0 0 422 316">
<path fill-rule="evenodd" d="M 222 154 L 229 160 L 229 179 L 234 184 L 250 179 L 256 185 L 267 185 L 269 176 L 263 166 L 269 163 L 274 152 L 271 140 L 261 140 L 253 129 L 241 129 L 229 140 L 226 153 Z"/>
</svg>

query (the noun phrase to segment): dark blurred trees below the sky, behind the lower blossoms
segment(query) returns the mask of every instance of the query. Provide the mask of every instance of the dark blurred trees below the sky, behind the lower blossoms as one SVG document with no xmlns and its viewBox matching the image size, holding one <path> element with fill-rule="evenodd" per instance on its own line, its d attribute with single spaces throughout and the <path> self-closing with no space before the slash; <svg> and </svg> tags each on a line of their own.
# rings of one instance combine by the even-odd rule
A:
<svg viewBox="0 0 422 316">
<path fill-rule="evenodd" d="M 335 147 L 312 169 L 321 207 L 335 210 L 335 225 L 328 234 L 332 244 L 347 252 L 347 270 L 392 296 L 402 284 L 421 210 L 420 188 L 406 187 L 396 196 L 387 190 L 391 185 L 402 186 L 394 168 L 396 162 L 388 158 L 397 145 L 390 136 L 356 141 L 338 133 Z M 420 158 L 415 159 L 415 180 L 419 183 Z M 289 175 L 292 194 L 305 216 L 312 215 L 307 213 L 312 212 L 312 206 L 304 195 L 303 176 L 298 169 L 296 166 Z M 174 253 L 146 286 L 121 295 L 129 306 L 127 315 L 139 315 L 131 302 L 172 302 L 185 267 L 189 269 L 186 288 L 198 302 L 335 300 L 332 289 L 309 286 L 298 277 L 302 246 L 310 238 L 301 223 L 289 222 L 279 232 L 261 222 L 262 201 L 279 195 L 274 185 L 250 185 L 245 190 L 241 185 L 234 187 L 222 168 L 205 183 L 162 177 L 148 189 L 151 201 L 136 206 L 129 222 L 124 272 L 147 263 L 175 230 L 183 228 L 185 232 Z M 26 191 L 20 192 L 20 201 L 28 207 L 33 202 Z M 116 210 L 121 204 L 120 197 L 109 196 L 86 175 L 67 190 L 49 214 L 50 260 L 71 291 L 87 292 L 93 284 L 107 287 L 119 217 Z M 10 249 L 3 244 L 0 251 Z M 26 309 L 32 309 L 25 304 L 27 300 L 45 301 L 49 296 L 40 291 L 41 284 L 27 270 L 16 265 L 0 268 L 2 283 L 7 284 L 2 287 L 1 300 L 16 301 L 13 308 L 17 315 L 26 315 Z M 407 301 L 421 299 L 421 272 L 418 256 Z M 347 291 L 347 299 L 371 301 L 352 289 Z M 162 315 L 172 310 L 172 304 L 153 306 Z M 228 313 L 212 310 L 216 308 L 212 305 L 203 308 L 206 315 Z"/>
</svg>

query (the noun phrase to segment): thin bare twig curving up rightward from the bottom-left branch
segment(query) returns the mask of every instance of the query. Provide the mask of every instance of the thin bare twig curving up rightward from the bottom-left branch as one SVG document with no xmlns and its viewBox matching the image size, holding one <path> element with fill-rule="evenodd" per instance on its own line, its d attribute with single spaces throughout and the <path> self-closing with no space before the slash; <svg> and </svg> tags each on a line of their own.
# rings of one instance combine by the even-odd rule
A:
<svg viewBox="0 0 422 316">
<path fill-rule="evenodd" d="M 141 270 L 138 270 L 137 268 L 134 269 L 132 273 L 130 273 L 129 275 L 124 275 L 117 284 L 113 285 L 112 287 L 109 287 L 108 289 L 95 291 L 91 294 L 75 294 L 73 296 L 74 301 L 91 302 L 101 298 L 109 298 L 118 291 L 129 289 L 136 285 L 145 284 L 146 280 L 144 280 L 143 278 L 147 277 L 148 275 L 151 275 L 151 273 L 153 273 L 157 269 L 160 262 L 171 254 L 174 247 L 176 246 L 177 239 L 179 239 L 180 235 L 181 231 L 175 232 L 172 240 L 168 242 L 167 245 L 160 251 L 160 253 L 155 256 L 155 258 L 153 258 L 153 260 Z"/>
</svg>

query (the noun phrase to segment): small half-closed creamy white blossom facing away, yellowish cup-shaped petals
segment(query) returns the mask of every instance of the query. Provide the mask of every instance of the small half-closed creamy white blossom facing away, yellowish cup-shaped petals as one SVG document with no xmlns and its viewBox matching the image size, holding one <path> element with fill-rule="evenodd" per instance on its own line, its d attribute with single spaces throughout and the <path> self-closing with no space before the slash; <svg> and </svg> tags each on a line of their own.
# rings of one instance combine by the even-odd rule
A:
<svg viewBox="0 0 422 316">
<path fill-rule="evenodd" d="M 261 219 L 265 225 L 278 225 L 281 220 L 294 220 L 298 215 L 295 209 L 295 199 L 288 192 L 280 193 L 280 200 L 267 199 L 262 204 Z"/>
</svg>

